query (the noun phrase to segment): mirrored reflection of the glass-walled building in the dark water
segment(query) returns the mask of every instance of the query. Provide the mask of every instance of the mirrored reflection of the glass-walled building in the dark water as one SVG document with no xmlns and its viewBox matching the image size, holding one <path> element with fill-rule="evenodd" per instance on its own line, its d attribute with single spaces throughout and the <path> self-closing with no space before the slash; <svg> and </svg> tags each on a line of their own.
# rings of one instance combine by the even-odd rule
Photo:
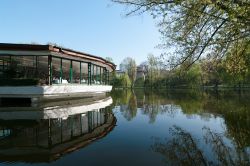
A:
<svg viewBox="0 0 250 166">
<path fill-rule="evenodd" d="M 50 162 L 104 137 L 115 126 L 108 107 L 112 98 L 75 103 L 43 107 L 43 111 L 1 108 L 0 161 Z"/>
</svg>

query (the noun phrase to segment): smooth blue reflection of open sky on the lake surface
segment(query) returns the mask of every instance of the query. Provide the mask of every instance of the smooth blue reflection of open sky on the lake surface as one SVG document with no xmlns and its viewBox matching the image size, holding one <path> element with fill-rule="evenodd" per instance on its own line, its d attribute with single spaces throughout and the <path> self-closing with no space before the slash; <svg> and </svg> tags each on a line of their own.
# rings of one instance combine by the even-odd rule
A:
<svg viewBox="0 0 250 166">
<path fill-rule="evenodd" d="M 206 135 L 204 127 L 219 134 L 225 145 L 232 148 L 230 153 L 236 154 L 235 140 L 230 135 L 226 135 L 228 134 L 225 124 L 227 121 L 224 120 L 224 114 L 203 113 L 208 111 L 187 114 L 182 111 L 180 106 L 175 105 L 148 108 L 137 108 L 133 112 L 126 104 L 115 106 L 113 113 L 117 118 L 117 123 L 106 137 L 50 164 L 162 165 L 164 155 L 156 153 L 151 147 L 155 140 L 163 144 L 171 141 L 174 137 L 171 135 L 170 128 L 173 126 L 178 126 L 190 134 L 198 150 L 201 150 L 206 159 L 210 161 L 216 159 L 216 154 L 211 142 L 206 144 L 204 140 Z M 159 109 L 157 110 L 157 108 Z M 250 154 L 249 148 L 245 148 L 245 150 L 248 151 L 247 154 Z"/>
</svg>

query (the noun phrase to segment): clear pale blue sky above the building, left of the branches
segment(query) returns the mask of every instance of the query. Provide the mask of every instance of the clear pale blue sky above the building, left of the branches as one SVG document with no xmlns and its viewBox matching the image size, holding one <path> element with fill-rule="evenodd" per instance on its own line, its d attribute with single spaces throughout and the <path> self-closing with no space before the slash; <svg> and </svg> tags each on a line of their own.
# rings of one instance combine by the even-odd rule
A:
<svg viewBox="0 0 250 166">
<path fill-rule="evenodd" d="M 159 55 L 156 21 L 149 14 L 125 17 L 110 0 L 1 0 L 0 43 L 56 43 L 116 65 Z"/>
</svg>

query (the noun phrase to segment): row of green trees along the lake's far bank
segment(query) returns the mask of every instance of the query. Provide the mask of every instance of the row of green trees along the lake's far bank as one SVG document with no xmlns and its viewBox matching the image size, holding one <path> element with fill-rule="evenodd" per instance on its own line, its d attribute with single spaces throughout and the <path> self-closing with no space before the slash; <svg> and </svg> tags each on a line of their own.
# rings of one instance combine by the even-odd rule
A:
<svg viewBox="0 0 250 166">
<path fill-rule="evenodd" d="M 203 57 L 192 66 L 185 62 L 177 67 L 171 62 L 166 66 L 153 54 L 138 66 L 132 58 L 125 58 L 120 65 L 122 74 L 114 73 L 112 83 L 114 87 L 131 88 L 250 87 L 250 47 L 244 53 L 232 52 L 223 58 Z M 142 69 L 143 77 L 136 76 L 137 67 Z"/>
</svg>

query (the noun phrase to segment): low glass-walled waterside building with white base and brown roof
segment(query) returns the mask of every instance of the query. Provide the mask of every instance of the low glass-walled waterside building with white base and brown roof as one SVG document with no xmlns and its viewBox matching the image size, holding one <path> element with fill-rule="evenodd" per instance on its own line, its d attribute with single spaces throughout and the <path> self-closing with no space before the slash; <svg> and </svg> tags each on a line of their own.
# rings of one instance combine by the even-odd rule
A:
<svg viewBox="0 0 250 166">
<path fill-rule="evenodd" d="M 0 43 L 0 98 L 109 92 L 115 68 L 101 57 L 55 45 Z"/>
</svg>

